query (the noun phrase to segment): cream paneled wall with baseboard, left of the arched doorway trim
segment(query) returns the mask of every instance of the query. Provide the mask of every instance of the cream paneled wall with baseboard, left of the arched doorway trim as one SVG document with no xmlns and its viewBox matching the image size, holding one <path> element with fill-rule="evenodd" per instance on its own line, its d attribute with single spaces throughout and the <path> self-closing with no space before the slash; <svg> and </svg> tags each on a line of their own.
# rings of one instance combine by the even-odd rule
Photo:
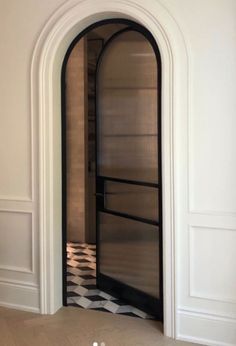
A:
<svg viewBox="0 0 236 346">
<path fill-rule="evenodd" d="M 63 1 L 0 1 L 0 304 L 39 311 L 37 123 L 34 46 Z"/>
</svg>

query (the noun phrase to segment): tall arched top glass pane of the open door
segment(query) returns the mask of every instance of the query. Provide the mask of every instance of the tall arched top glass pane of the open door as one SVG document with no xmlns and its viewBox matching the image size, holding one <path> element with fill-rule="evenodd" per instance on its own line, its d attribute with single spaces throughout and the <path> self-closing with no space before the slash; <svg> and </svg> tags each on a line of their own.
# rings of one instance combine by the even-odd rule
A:
<svg viewBox="0 0 236 346">
<path fill-rule="evenodd" d="M 98 74 L 98 174 L 158 181 L 157 62 L 147 39 L 120 34 Z"/>
</svg>

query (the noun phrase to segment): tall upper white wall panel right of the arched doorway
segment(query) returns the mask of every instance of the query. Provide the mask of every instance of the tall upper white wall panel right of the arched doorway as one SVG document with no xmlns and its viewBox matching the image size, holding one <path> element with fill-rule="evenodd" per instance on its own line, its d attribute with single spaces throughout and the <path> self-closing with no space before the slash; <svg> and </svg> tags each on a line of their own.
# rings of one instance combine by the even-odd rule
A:
<svg viewBox="0 0 236 346">
<path fill-rule="evenodd" d="M 193 6 L 192 3 L 190 6 Z M 218 3 L 213 12 L 210 3 L 206 5 L 205 2 L 198 12 L 201 13 L 201 23 L 205 24 L 202 35 L 197 35 L 201 31 L 197 16 L 196 22 L 193 18 L 191 24 L 189 22 L 190 26 L 195 22 L 194 32 L 185 33 L 191 47 L 188 124 L 190 211 L 236 215 L 235 2 Z M 213 27 L 218 28 L 219 36 L 224 32 L 224 39 L 215 39 L 217 35 Z M 204 53 L 206 50 L 208 54 Z"/>
</svg>

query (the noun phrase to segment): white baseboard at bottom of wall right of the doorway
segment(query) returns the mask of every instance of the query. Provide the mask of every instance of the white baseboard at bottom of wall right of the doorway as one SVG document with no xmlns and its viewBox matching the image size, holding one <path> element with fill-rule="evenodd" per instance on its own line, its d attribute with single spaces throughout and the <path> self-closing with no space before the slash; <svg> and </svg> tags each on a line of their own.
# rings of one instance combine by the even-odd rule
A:
<svg viewBox="0 0 236 346">
<path fill-rule="evenodd" d="M 235 346 L 236 319 L 180 309 L 176 334 L 178 340 L 209 346 Z"/>
</svg>

